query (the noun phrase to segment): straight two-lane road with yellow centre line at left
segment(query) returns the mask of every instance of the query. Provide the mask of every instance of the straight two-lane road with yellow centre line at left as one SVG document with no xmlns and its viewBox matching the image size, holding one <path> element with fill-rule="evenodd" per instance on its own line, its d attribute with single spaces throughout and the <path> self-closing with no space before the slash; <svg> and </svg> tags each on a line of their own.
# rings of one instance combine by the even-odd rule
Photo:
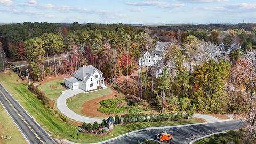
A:
<svg viewBox="0 0 256 144">
<path fill-rule="evenodd" d="M 0 102 L 26 137 L 28 143 L 56 143 L 12 95 L 5 90 L 2 84 L 0 84 Z"/>
</svg>

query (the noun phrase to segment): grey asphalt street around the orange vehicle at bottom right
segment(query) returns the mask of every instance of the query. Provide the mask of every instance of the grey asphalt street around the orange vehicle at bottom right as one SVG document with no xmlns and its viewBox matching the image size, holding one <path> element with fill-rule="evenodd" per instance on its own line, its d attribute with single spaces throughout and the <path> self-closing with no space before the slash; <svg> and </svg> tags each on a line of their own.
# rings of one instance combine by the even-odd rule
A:
<svg viewBox="0 0 256 144">
<path fill-rule="evenodd" d="M 191 126 L 174 127 L 171 129 L 154 129 L 152 130 L 152 138 L 156 139 L 156 135 L 162 132 L 170 133 L 173 139 L 164 143 L 189 143 L 196 138 L 203 137 L 204 135 L 221 132 L 226 130 L 234 130 L 244 127 L 244 120 L 232 120 L 225 122 L 199 124 Z M 112 140 L 106 143 L 136 143 L 137 140 L 142 141 L 143 138 L 150 139 L 150 131 L 141 131 L 126 135 L 124 137 Z"/>
</svg>

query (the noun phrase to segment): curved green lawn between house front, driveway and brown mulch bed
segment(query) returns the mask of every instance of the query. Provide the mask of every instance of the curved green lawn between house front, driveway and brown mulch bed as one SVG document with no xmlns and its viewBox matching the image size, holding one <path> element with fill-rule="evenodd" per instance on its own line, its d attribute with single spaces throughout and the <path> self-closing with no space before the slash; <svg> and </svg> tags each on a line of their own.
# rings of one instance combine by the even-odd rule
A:
<svg viewBox="0 0 256 144">
<path fill-rule="evenodd" d="M 83 109 L 83 104 L 86 101 L 102 97 L 104 95 L 111 94 L 113 91 L 109 87 L 107 89 L 90 92 L 90 93 L 79 93 L 75 95 L 74 97 L 68 98 L 66 100 L 68 107 L 75 111 L 75 113 L 83 115 L 81 113 L 81 110 Z"/>
</svg>

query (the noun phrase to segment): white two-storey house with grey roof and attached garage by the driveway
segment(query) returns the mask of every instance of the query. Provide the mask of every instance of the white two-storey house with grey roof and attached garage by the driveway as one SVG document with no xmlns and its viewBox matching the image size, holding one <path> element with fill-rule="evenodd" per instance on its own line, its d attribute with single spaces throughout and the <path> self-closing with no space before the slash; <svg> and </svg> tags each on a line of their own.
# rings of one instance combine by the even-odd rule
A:
<svg viewBox="0 0 256 144">
<path fill-rule="evenodd" d="M 79 68 L 73 77 L 65 78 L 65 86 L 70 89 L 82 89 L 91 91 L 97 89 L 98 86 L 106 87 L 104 84 L 103 73 L 92 65 Z"/>
</svg>

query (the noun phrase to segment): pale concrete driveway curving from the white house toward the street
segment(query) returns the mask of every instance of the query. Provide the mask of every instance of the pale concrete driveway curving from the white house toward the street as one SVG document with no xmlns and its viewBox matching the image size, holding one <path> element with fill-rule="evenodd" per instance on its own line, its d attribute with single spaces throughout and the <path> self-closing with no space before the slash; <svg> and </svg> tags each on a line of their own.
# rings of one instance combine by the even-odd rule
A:
<svg viewBox="0 0 256 144">
<path fill-rule="evenodd" d="M 96 91 L 100 91 L 100 90 L 96 90 Z M 93 92 L 93 91 L 91 91 L 91 92 Z M 73 97 L 74 95 L 79 94 L 79 93 L 89 93 L 89 92 L 85 92 L 84 90 L 81 90 L 81 89 L 78 89 L 78 90 L 69 89 L 69 90 L 62 91 L 62 94 L 56 101 L 57 108 L 59 109 L 59 111 L 63 115 L 67 116 L 68 118 L 74 119 L 75 121 L 78 121 L 78 122 L 94 123 L 95 121 L 97 121 L 98 123 L 101 123 L 102 118 L 92 118 L 92 117 L 78 115 L 77 113 L 75 113 L 74 111 L 69 109 L 69 107 L 67 106 L 66 100 L 70 97 Z M 102 96 L 102 97 L 104 97 L 104 96 Z M 205 119 L 207 121 L 207 123 L 227 121 L 227 120 L 220 120 L 214 116 L 204 115 L 204 114 L 194 114 L 194 117 Z M 228 119 L 228 120 L 230 120 L 230 119 Z"/>
</svg>

